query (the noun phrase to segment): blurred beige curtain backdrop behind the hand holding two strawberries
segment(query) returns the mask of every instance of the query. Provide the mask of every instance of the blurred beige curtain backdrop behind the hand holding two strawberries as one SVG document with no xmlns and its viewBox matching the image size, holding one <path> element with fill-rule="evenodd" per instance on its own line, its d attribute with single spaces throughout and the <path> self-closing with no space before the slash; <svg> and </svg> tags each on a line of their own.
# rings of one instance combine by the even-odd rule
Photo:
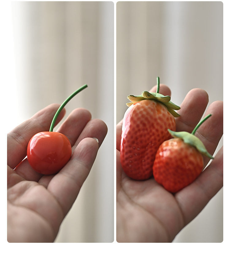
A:
<svg viewBox="0 0 230 256">
<path fill-rule="evenodd" d="M 116 65 L 117 122 L 127 95 L 150 90 L 157 76 L 177 105 L 193 88 L 209 104 L 223 100 L 223 3 L 118 2 Z M 223 189 L 173 242 L 222 241 Z"/>
</svg>

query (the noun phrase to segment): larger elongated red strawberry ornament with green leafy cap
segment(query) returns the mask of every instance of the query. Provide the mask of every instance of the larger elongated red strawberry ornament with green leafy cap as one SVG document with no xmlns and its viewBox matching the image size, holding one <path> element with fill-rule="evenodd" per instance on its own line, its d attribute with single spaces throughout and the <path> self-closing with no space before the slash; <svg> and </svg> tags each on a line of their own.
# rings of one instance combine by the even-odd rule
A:
<svg viewBox="0 0 230 256">
<path fill-rule="evenodd" d="M 157 92 L 142 92 L 142 95 L 127 97 L 131 102 L 126 110 L 121 135 L 121 165 L 133 179 L 145 180 L 152 176 L 155 154 L 161 143 L 172 138 L 167 129 L 175 130 L 174 110 L 180 109 L 170 101 L 170 96 Z"/>
</svg>

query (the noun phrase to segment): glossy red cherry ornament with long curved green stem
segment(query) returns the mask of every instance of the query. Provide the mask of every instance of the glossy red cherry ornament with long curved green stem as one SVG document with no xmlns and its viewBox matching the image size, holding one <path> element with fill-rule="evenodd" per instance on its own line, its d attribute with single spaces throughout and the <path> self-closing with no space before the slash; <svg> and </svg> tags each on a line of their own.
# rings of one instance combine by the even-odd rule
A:
<svg viewBox="0 0 230 256">
<path fill-rule="evenodd" d="M 71 158 L 72 147 L 69 139 L 64 134 L 53 132 L 53 128 L 59 113 L 67 102 L 86 87 L 87 85 L 83 85 L 62 103 L 54 115 L 49 131 L 39 132 L 30 139 L 27 146 L 27 158 L 36 172 L 55 174 Z"/>
</svg>

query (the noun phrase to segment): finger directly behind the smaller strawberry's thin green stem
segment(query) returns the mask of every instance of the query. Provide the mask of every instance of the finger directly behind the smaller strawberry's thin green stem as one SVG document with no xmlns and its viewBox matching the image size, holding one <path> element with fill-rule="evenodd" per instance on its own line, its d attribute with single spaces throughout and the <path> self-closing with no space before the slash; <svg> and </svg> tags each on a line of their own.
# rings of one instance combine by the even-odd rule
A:
<svg viewBox="0 0 230 256">
<path fill-rule="evenodd" d="M 208 152 L 213 155 L 217 145 L 223 135 L 223 102 L 215 101 L 208 107 L 205 116 L 212 114 L 198 128 L 195 136 L 205 145 Z M 204 157 L 204 166 L 209 162 L 208 157 Z"/>
</svg>

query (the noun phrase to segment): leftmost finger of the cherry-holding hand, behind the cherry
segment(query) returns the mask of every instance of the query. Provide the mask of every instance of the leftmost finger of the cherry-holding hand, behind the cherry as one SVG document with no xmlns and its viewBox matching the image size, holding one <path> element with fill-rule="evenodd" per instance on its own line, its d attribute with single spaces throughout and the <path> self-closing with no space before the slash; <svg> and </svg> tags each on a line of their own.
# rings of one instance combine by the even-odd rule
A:
<svg viewBox="0 0 230 256">
<path fill-rule="evenodd" d="M 7 134 L 7 164 L 12 169 L 25 158 L 28 142 L 33 135 L 49 130 L 59 106 L 59 104 L 51 104 L 45 107 Z M 55 124 L 60 122 L 64 114 L 65 110 L 63 109 Z"/>
</svg>

